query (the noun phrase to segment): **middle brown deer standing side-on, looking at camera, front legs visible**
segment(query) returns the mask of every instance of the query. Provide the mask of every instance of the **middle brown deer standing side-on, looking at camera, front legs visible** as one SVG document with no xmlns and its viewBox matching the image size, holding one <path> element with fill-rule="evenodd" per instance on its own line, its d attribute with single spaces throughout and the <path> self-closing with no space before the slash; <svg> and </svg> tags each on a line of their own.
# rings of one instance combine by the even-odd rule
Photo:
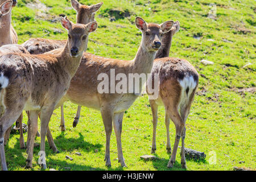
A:
<svg viewBox="0 0 256 182">
<path fill-rule="evenodd" d="M 122 167 L 126 166 L 121 144 L 123 113 L 129 109 L 139 94 L 133 90 L 133 92 L 129 93 L 99 93 L 98 85 L 101 81 L 97 77 L 102 73 L 107 77 L 111 77 L 113 70 L 116 75 L 120 73 L 127 77 L 133 73 L 137 73 L 138 75 L 150 73 L 156 51 L 161 46 L 162 35 L 170 31 L 173 23 L 172 20 L 160 25 L 146 23 L 142 18 L 137 17 L 135 24 L 142 31 L 142 42 L 137 55 L 130 61 L 109 59 L 85 52 L 76 75 L 72 78 L 67 94 L 60 101 L 61 103 L 69 100 L 77 105 L 91 107 L 101 111 L 106 133 L 106 166 L 111 166 L 110 135 L 112 134 L 113 125 L 117 139 L 118 161 Z M 56 51 L 53 50 L 49 53 Z M 110 82 L 113 83 L 113 80 L 110 80 Z M 114 82 L 115 84 L 117 83 L 116 80 Z M 112 90 L 110 85 L 106 89 L 110 87 L 110 90 Z M 143 80 L 140 79 L 139 90 L 141 90 L 142 85 Z"/>
</svg>

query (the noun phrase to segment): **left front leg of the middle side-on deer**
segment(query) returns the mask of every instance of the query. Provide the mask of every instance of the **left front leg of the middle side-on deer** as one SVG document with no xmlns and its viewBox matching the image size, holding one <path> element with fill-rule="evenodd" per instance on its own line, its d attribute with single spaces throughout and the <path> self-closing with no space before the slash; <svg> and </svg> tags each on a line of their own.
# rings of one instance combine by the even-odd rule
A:
<svg viewBox="0 0 256 182">
<path fill-rule="evenodd" d="M 109 109 L 102 107 L 101 116 L 105 127 L 106 133 L 106 150 L 105 150 L 105 164 L 107 167 L 111 167 L 110 162 L 110 137 L 112 134 L 112 113 Z"/>
</svg>

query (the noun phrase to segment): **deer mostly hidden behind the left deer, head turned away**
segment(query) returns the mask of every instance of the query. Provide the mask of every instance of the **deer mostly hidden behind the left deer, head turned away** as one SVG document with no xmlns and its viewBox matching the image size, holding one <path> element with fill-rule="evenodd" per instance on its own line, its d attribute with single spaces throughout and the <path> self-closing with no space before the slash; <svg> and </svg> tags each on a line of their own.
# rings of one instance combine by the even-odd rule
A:
<svg viewBox="0 0 256 182">
<path fill-rule="evenodd" d="M 96 11 L 100 9 L 103 3 L 97 3 L 96 5 L 87 6 L 81 5 L 77 0 L 71 0 L 73 9 L 76 10 L 76 23 L 87 24 L 89 22 L 95 22 L 94 16 Z M 24 48 L 33 55 L 42 54 L 53 49 L 64 47 L 66 40 L 51 40 L 42 38 L 33 38 L 27 40 L 22 44 Z"/>
</svg>

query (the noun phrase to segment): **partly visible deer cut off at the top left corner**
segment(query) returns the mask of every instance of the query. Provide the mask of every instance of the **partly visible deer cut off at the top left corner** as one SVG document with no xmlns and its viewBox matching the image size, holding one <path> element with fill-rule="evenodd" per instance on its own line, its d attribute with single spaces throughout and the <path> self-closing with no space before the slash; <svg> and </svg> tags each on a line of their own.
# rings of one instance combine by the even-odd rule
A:
<svg viewBox="0 0 256 182">
<path fill-rule="evenodd" d="M 0 0 L 0 47 L 18 43 L 18 36 L 11 25 L 11 8 L 15 5 L 16 0 Z"/>
</svg>

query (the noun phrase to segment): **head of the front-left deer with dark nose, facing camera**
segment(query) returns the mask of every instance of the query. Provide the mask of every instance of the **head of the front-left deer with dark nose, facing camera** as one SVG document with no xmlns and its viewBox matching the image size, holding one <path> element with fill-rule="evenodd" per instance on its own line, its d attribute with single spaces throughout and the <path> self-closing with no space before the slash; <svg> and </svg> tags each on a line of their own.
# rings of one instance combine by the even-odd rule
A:
<svg viewBox="0 0 256 182">
<path fill-rule="evenodd" d="M 60 17 L 61 25 L 68 30 L 68 49 L 69 55 L 77 57 L 87 48 L 88 35 L 96 31 L 98 25 L 96 22 L 88 24 L 74 24 L 67 17 Z"/>
</svg>

